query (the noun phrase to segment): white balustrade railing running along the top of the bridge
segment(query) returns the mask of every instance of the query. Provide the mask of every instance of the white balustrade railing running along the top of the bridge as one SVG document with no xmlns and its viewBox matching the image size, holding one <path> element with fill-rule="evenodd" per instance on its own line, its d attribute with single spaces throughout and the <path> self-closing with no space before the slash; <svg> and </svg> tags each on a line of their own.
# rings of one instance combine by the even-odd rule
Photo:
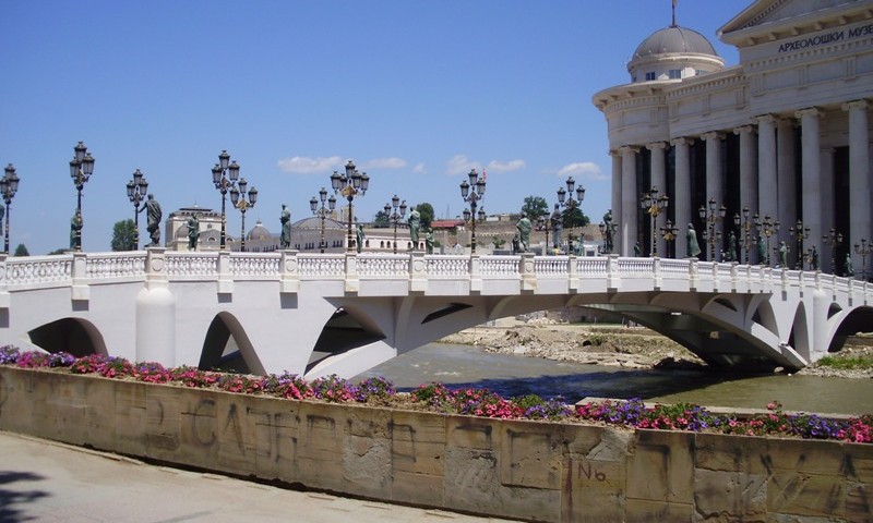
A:
<svg viewBox="0 0 873 523">
<path fill-rule="evenodd" d="M 671 258 L 625 258 L 524 255 L 424 255 L 331 253 L 177 252 L 164 248 L 122 253 L 70 253 L 53 256 L 9 257 L 0 254 L 0 307 L 10 291 L 72 288 L 74 300 L 87 300 L 93 284 L 136 281 L 218 282 L 218 292 L 232 292 L 234 281 L 280 281 L 282 292 L 297 292 L 304 281 L 346 281 L 357 290 L 368 281 L 392 281 L 392 289 L 427 292 L 441 280 L 469 281 L 470 290 L 493 282 L 521 281 L 536 291 L 537 281 L 549 289 L 585 292 L 605 290 L 697 290 L 704 292 L 777 292 L 816 288 L 834 295 L 871 300 L 866 282 L 817 271 L 787 270 Z M 548 283 L 547 283 L 548 282 Z M 603 283 L 606 282 L 606 283 Z M 400 287 L 398 287 L 400 285 Z M 558 285 L 558 287 L 555 287 Z M 598 287 L 600 285 L 600 287 Z M 554 292 L 554 291 L 547 291 Z M 8 305 L 7 305 L 8 306 Z"/>
</svg>

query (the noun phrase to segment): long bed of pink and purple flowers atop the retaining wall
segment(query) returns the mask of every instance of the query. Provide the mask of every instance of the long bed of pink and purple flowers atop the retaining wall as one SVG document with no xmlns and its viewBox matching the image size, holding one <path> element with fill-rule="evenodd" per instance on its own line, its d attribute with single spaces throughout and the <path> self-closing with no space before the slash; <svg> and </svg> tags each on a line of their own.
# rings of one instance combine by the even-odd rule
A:
<svg viewBox="0 0 873 523">
<path fill-rule="evenodd" d="M 311 381 L 298 375 L 249 376 L 201 370 L 181 366 L 165 368 L 157 363 L 131 363 L 124 358 L 92 354 L 76 358 L 71 354 L 47 354 L 0 348 L 0 365 L 21 368 L 55 368 L 72 374 L 96 374 L 106 378 L 170 384 L 190 388 L 215 388 L 227 392 L 263 394 L 331 403 L 363 403 L 397 406 L 446 414 L 502 419 L 548 419 L 563 423 L 600 423 L 618 427 L 704 431 L 748 436 L 781 436 L 870 443 L 873 415 L 827 419 L 815 414 L 788 414 L 778 402 L 767 413 L 751 417 L 716 414 L 687 403 L 646 406 L 638 398 L 629 401 L 605 400 L 567 405 L 558 398 L 525 396 L 505 399 L 488 389 L 450 389 L 441 384 L 421 385 L 409 394 L 397 393 L 384 378 L 369 378 L 355 385 L 336 376 Z"/>
</svg>

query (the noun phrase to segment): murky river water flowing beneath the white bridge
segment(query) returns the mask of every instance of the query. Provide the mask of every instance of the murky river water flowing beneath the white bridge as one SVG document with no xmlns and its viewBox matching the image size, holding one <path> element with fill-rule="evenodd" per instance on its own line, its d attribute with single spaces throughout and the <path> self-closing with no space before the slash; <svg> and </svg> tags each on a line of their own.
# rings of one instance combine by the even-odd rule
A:
<svg viewBox="0 0 873 523">
<path fill-rule="evenodd" d="M 786 410 L 834 414 L 873 413 L 873 379 L 823 378 L 730 372 L 624 369 L 602 365 L 491 354 L 473 345 L 429 343 L 357 376 L 382 376 L 398 390 L 439 381 L 488 388 L 504 398 L 561 396 L 643 398 L 662 403 L 765 409 L 778 400 Z"/>
</svg>

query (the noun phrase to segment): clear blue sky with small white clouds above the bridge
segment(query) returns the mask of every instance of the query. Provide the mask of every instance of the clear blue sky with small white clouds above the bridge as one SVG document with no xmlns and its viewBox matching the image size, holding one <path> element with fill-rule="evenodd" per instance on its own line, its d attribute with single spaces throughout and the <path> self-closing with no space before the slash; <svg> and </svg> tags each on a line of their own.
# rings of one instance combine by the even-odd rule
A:
<svg viewBox="0 0 873 523">
<path fill-rule="evenodd" d="M 680 0 L 678 23 L 733 65 L 716 31 L 750 3 Z M 108 251 L 112 224 L 133 217 L 135 169 L 165 218 L 218 209 L 211 168 L 223 149 L 260 193 L 247 227 L 278 231 L 282 204 L 292 220 L 310 216 L 309 198 L 348 159 L 370 175 L 361 220 L 394 194 L 457 216 L 464 174 L 483 167 L 489 214 L 528 195 L 553 203 L 572 174 L 583 210 L 599 217 L 611 168 L 591 95 L 630 81 L 626 61 L 670 11 L 670 0 L 7 0 L 0 163 L 21 177 L 12 248 L 69 245 L 79 141 L 96 158 L 83 199 L 91 252 Z M 228 230 L 239 227 L 229 208 Z"/>
</svg>

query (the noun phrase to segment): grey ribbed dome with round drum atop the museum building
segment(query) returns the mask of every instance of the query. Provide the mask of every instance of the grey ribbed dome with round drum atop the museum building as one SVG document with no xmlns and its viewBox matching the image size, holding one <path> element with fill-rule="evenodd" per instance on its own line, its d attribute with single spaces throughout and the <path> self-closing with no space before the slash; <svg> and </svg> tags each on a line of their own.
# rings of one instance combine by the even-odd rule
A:
<svg viewBox="0 0 873 523">
<path fill-rule="evenodd" d="M 627 62 L 633 83 L 679 81 L 722 69 L 725 60 L 705 36 L 678 25 L 649 35 Z"/>
</svg>

